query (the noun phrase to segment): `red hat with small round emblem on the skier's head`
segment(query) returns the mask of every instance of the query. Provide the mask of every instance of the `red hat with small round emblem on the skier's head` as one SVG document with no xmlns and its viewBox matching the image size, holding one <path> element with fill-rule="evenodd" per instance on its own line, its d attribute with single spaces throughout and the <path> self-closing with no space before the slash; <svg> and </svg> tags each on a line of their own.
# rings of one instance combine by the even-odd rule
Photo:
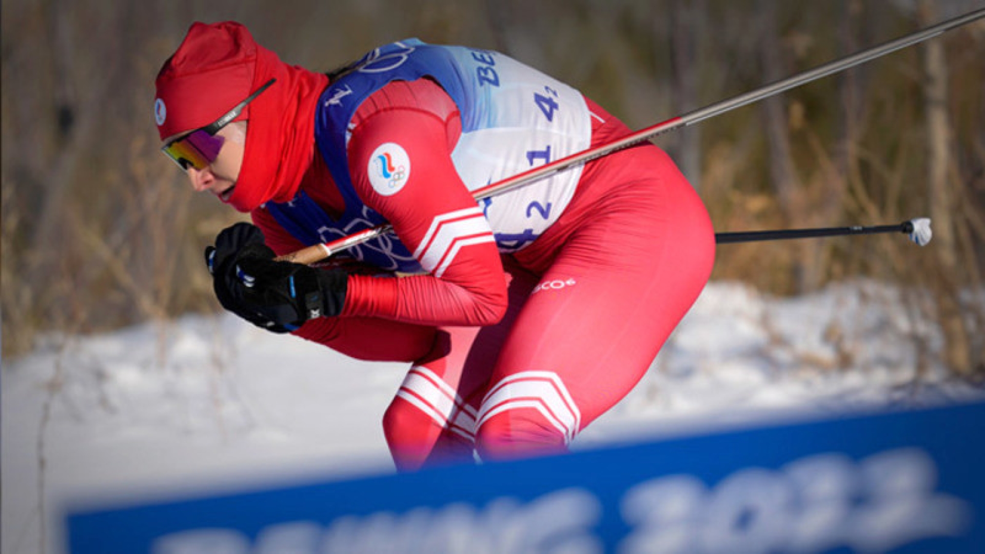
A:
<svg viewBox="0 0 985 554">
<path fill-rule="evenodd" d="M 158 73 L 154 116 L 164 139 L 204 127 L 252 92 L 257 44 L 233 23 L 194 23 Z M 249 116 L 249 105 L 235 120 Z"/>
</svg>

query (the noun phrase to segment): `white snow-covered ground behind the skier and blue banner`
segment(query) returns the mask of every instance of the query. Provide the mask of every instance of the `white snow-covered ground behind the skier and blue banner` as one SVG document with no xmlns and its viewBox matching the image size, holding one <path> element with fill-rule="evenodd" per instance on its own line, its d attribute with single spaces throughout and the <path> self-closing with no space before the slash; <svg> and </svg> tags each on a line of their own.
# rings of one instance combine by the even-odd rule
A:
<svg viewBox="0 0 985 554">
<path fill-rule="evenodd" d="M 949 377 L 914 302 L 866 281 L 787 300 L 713 283 L 575 447 L 985 396 Z M 3 362 L 2 551 L 56 551 L 64 503 L 92 495 L 391 472 L 379 421 L 405 370 L 229 315 L 47 336 Z"/>
</svg>

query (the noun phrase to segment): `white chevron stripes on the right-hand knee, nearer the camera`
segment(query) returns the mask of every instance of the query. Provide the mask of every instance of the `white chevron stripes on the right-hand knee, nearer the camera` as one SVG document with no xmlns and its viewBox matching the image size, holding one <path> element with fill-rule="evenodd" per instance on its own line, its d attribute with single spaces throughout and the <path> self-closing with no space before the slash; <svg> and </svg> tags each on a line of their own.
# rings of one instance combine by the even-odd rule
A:
<svg viewBox="0 0 985 554">
<path fill-rule="evenodd" d="M 499 381 L 483 398 L 476 431 L 491 417 L 506 410 L 533 408 L 564 437 L 574 440 L 581 426 L 581 412 L 554 372 L 520 372 Z"/>
</svg>

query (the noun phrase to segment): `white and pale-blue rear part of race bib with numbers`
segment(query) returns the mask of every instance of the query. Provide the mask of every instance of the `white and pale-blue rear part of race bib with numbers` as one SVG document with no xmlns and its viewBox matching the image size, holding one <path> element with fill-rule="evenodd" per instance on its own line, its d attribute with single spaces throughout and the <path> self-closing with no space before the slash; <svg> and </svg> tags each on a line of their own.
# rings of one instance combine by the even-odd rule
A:
<svg viewBox="0 0 985 554">
<path fill-rule="evenodd" d="M 578 91 L 507 56 L 455 48 L 470 90 L 452 161 L 469 190 L 586 150 L 591 115 Z M 581 166 L 480 202 L 500 251 L 516 251 L 553 223 L 574 195 Z"/>
</svg>

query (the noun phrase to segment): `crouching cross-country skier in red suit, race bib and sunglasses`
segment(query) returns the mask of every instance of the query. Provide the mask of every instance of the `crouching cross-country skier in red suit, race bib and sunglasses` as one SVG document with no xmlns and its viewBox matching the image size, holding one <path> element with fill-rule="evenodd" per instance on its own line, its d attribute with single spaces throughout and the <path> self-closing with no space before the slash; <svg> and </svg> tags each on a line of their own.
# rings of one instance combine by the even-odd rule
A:
<svg viewBox="0 0 985 554">
<path fill-rule="evenodd" d="M 642 378 L 711 272 L 707 212 L 652 144 L 477 203 L 480 187 L 630 132 L 493 51 L 408 39 L 327 76 L 239 24 L 196 23 L 158 75 L 155 116 L 195 189 L 255 224 L 206 250 L 223 307 L 412 363 L 383 418 L 402 470 L 566 450 Z M 348 262 L 274 259 L 383 222 L 395 234 Z"/>
</svg>

